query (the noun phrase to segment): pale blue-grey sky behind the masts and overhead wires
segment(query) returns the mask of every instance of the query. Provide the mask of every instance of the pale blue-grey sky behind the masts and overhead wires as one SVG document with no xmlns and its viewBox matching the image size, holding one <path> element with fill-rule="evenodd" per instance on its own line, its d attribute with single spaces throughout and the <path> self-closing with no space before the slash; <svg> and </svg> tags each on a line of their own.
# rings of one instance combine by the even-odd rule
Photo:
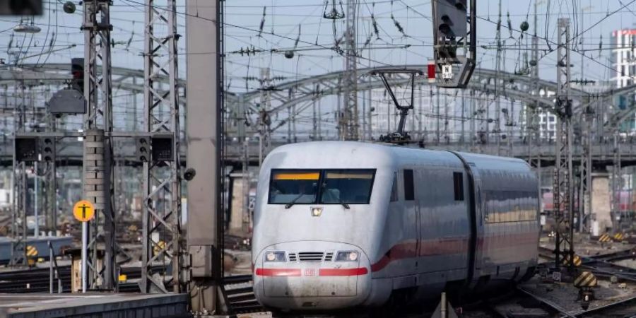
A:
<svg viewBox="0 0 636 318">
<path fill-rule="evenodd" d="M 64 48 L 76 45 L 61 52 L 44 54 L 23 60 L 24 63 L 68 62 L 71 57 L 83 56 L 83 35 L 79 29 L 81 25 L 81 6 L 74 14 L 61 11 L 63 1 L 44 0 L 45 15 L 35 18 L 35 24 L 42 28 L 42 32 L 33 35 L 16 34 L 12 46 L 22 49 L 22 56 L 30 56 L 40 52 L 47 52 L 48 45 L 54 48 Z M 133 69 L 143 65 L 141 52 L 143 51 L 143 0 L 114 0 L 112 7 L 112 23 L 114 31 L 112 38 L 117 44 L 112 50 L 113 64 Z M 208 1 L 208 0 L 199 0 Z M 379 40 L 372 36 L 370 46 L 375 49 L 365 49 L 361 54 L 366 59 L 360 59 L 360 67 L 365 65 L 382 64 L 426 64 L 432 55 L 432 24 L 430 22 L 430 1 L 423 0 L 358 0 L 360 23 L 358 25 L 358 43 L 362 47 L 367 36 L 372 33 L 370 16 L 373 13 L 379 28 Z M 337 4 L 338 9 L 340 9 Z M 346 1 L 345 1 L 346 2 Z M 572 35 L 577 37 L 577 49 L 594 49 L 585 54 L 585 78 L 593 80 L 608 80 L 612 66 L 606 58 L 609 56 L 609 42 L 612 30 L 632 28 L 636 21 L 636 4 L 632 0 L 542 0 L 538 6 L 538 36 L 551 42 L 556 42 L 556 23 L 559 17 L 572 19 Z M 159 5 L 160 2 L 157 2 Z M 329 1 L 331 3 L 331 1 Z M 183 33 L 184 1 L 178 1 L 179 32 Z M 495 45 L 495 28 L 497 21 L 498 1 L 478 0 L 478 44 L 481 46 Z M 519 57 L 518 32 L 507 28 L 507 13 L 510 13 L 512 28 L 519 30 L 524 20 L 530 23 L 529 34 L 534 33 L 534 1 L 502 0 L 502 39 L 505 39 L 505 70 L 519 69 L 524 62 Z M 258 68 L 269 66 L 272 76 L 285 76 L 289 79 L 312 76 L 319 73 L 342 69 L 343 61 L 334 50 L 334 31 L 331 20 L 322 17 L 324 1 L 322 0 L 227 0 L 225 1 L 225 35 L 226 51 L 228 52 L 227 76 L 231 78 L 230 90 L 244 90 L 245 80 L 249 76 L 258 76 Z M 549 7 L 548 7 L 549 5 Z M 624 6 L 622 10 L 613 13 Z M 329 5 L 330 6 L 330 5 Z M 263 8 L 266 7 L 264 33 L 258 37 L 259 24 Z M 548 14 L 546 14 L 548 13 Z M 608 16 L 611 14 L 611 16 Z M 391 20 L 391 15 L 404 28 L 406 37 L 399 33 Z M 0 18 L 0 57 L 6 57 L 6 49 L 13 31 L 11 28 L 20 18 Z M 298 25 L 302 25 L 298 47 L 303 50 L 296 52 L 293 59 L 285 59 L 281 53 L 269 52 L 271 49 L 289 49 L 294 47 L 298 36 Z M 336 37 L 343 31 L 343 20 L 336 21 Z M 231 26 L 235 25 L 240 28 Z M 546 32 L 547 25 L 547 32 Z M 575 26 L 576 25 L 576 26 Z M 583 32 L 585 30 L 585 32 Z M 274 33 L 271 35 L 269 33 Z M 55 35 L 55 36 L 54 36 Z M 603 37 L 603 49 L 598 51 L 599 42 Z M 54 39 L 54 42 L 51 42 Z M 185 37 L 182 37 L 180 51 L 184 59 Z M 127 43 L 131 40 L 129 47 Z M 527 41 L 526 41 L 527 40 Z M 526 36 L 520 47 L 529 47 L 530 37 Z M 315 45 L 315 43 L 318 45 Z M 527 45 L 526 45 L 527 42 Z M 404 45 L 410 45 L 404 48 Z M 232 54 L 240 48 L 255 47 L 267 52 L 257 53 L 250 57 Z M 517 49 L 513 49 L 517 48 Z M 540 48 L 548 50 L 546 40 L 540 40 Z M 555 45 L 551 45 L 555 49 Z M 546 51 L 547 52 L 547 51 Z M 601 53 L 599 57 L 599 52 Z M 50 55 L 50 56 L 49 56 Z M 482 67 L 493 68 L 495 49 L 478 49 L 479 62 Z M 573 78 L 579 78 L 581 55 L 572 52 L 572 63 L 575 64 Z M 553 79 L 555 52 L 548 52 L 540 61 L 541 77 Z M 249 71 L 248 67 L 249 66 Z M 184 64 L 180 67 L 184 72 Z M 247 83 L 248 88 L 255 88 L 256 82 Z"/>
</svg>

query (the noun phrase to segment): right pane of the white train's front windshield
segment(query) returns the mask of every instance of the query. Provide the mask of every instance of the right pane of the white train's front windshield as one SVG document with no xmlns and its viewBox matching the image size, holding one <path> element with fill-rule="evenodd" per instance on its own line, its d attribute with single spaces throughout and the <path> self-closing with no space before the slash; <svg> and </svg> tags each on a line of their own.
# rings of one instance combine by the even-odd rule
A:
<svg viewBox="0 0 636 318">
<path fill-rule="evenodd" d="M 321 204 L 369 204 L 375 170 L 325 170 Z"/>
</svg>

